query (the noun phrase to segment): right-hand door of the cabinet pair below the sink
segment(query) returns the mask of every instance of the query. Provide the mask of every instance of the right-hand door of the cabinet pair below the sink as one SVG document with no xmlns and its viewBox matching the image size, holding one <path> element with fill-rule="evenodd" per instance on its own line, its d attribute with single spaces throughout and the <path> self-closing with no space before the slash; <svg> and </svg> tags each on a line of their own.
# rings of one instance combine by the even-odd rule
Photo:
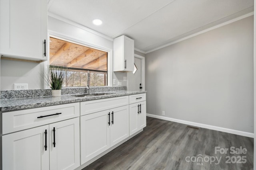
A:
<svg viewBox="0 0 256 170">
<path fill-rule="evenodd" d="M 110 109 L 110 147 L 129 137 L 129 106 Z"/>
</svg>

